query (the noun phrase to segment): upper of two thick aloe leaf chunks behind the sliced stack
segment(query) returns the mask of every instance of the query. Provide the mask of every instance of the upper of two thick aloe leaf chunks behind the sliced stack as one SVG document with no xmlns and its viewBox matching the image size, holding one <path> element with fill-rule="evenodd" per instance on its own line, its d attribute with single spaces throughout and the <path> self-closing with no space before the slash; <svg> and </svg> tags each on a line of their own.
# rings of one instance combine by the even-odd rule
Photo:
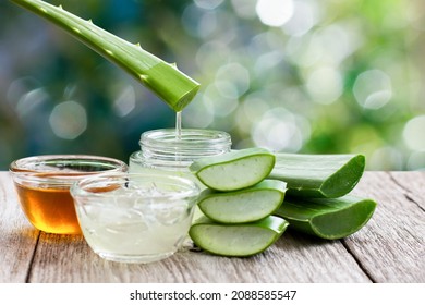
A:
<svg viewBox="0 0 425 305">
<path fill-rule="evenodd" d="M 287 182 L 296 197 L 336 198 L 350 193 L 363 175 L 363 155 L 276 155 L 269 178 Z"/>
</svg>

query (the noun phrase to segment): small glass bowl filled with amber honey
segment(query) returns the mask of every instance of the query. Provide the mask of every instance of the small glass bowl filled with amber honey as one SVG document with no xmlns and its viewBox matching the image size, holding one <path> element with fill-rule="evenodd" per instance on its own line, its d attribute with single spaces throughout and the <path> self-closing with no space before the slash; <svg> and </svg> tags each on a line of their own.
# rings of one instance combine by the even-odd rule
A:
<svg viewBox="0 0 425 305">
<path fill-rule="evenodd" d="M 40 231 L 81 234 L 70 187 L 87 175 L 125 172 L 120 160 L 86 155 L 45 155 L 19 159 L 10 164 L 22 210 Z"/>
</svg>

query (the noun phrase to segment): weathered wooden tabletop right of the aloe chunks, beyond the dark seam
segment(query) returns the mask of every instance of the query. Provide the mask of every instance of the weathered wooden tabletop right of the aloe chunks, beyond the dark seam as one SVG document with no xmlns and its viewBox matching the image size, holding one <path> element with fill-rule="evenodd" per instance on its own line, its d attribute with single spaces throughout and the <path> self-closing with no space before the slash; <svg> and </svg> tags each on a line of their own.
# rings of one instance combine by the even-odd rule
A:
<svg viewBox="0 0 425 305">
<path fill-rule="evenodd" d="M 344 243 L 375 282 L 425 282 L 425 212 L 405 196 L 412 191 L 423 197 L 425 172 L 397 176 L 402 184 L 396 183 L 392 173 L 363 176 L 353 193 L 376 199 L 378 207 L 361 234 Z M 409 191 L 402 185 L 417 186 Z"/>
</svg>

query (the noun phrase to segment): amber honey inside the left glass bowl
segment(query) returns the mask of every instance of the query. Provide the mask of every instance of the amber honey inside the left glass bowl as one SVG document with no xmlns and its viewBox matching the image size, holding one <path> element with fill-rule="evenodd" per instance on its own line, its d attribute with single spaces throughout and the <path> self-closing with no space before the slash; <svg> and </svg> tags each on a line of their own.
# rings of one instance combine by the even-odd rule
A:
<svg viewBox="0 0 425 305">
<path fill-rule="evenodd" d="M 69 188 L 15 186 L 25 216 L 38 230 L 58 234 L 81 233 Z"/>
</svg>

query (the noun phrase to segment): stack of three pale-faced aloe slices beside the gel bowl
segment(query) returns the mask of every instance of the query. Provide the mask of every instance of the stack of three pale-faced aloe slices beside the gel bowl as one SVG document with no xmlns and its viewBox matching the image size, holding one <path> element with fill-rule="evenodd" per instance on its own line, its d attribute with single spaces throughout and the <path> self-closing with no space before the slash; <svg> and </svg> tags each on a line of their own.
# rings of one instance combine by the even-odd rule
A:
<svg viewBox="0 0 425 305">
<path fill-rule="evenodd" d="M 274 244 L 289 222 L 272 216 L 287 184 L 269 180 L 275 155 L 263 148 L 196 160 L 190 167 L 207 188 L 198 207 L 205 215 L 191 227 L 194 243 L 212 254 L 251 256 Z"/>
</svg>

